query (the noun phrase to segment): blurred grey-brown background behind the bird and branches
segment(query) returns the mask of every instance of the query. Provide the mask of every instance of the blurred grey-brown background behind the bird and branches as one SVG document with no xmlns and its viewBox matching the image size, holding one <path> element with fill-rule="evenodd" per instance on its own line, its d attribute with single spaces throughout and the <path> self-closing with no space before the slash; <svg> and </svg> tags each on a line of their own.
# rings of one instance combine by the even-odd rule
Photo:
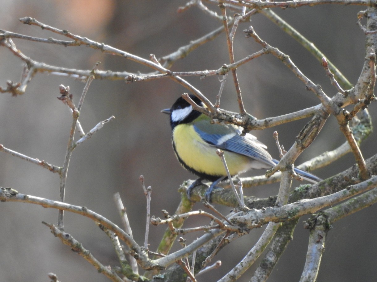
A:
<svg viewBox="0 0 377 282">
<path fill-rule="evenodd" d="M 29 16 L 44 24 L 67 29 L 143 58 L 149 58 L 150 54 L 159 58 L 221 26 L 218 20 L 208 17 L 195 7 L 178 13 L 178 7 L 185 3 L 180 0 L 2 0 L 0 29 L 43 38 L 53 36 L 66 39 L 18 21 L 18 18 Z M 220 13 L 215 6 L 210 8 Z M 356 25 L 360 7 L 322 5 L 274 11 L 314 42 L 351 83 L 357 81 L 365 56 L 365 36 Z M 263 40 L 290 55 L 300 70 L 314 83 L 319 83 L 328 96 L 336 94 L 320 63 L 263 15 L 254 15 L 251 23 L 242 23 L 238 27 L 234 39 L 236 60 L 260 50 L 253 39 L 244 37 L 242 30 L 250 25 Z M 85 46 L 64 48 L 19 39 L 14 39 L 14 42 L 26 56 L 50 65 L 85 70 L 100 61 L 100 70 L 150 72 L 142 65 Z M 225 35 L 222 34 L 190 53 L 184 60 L 176 62 L 171 69 L 214 70 L 228 62 Z M 18 58 L 8 49 L 0 48 L 1 86 L 5 87 L 7 80 L 18 82 L 22 69 L 22 62 Z M 306 91 L 305 85 L 272 55 L 242 65 L 238 69 L 238 77 L 245 108 L 257 118 L 286 114 L 319 103 L 315 95 Z M 215 102 L 220 86 L 218 77 L 185 79 Z M 18 97 L 12 97 L 9 93 L 1 94 L 0 144 L 50 164 L 63 165 L 72 115 L 67 106 L 56 99 L 60 96 L 60 84 L 70 86 L 77 104 L 83 82 L 41 73 L 29 83 L 25 94 Z M 161 109 L 170 108 L 183 92 L 187 90 L 170 79 L 129 84 L 121 81 L 93 81 L 80 115 L 84 131 L 89 131 L 111 115 L 116 120 L 106 124 L 74 151 L 68 172 L 66 202 L 86 206 L 121 225 L 113 202 L 113 194 L 120 192 L 135 240 L 143 244 L 146 199 L 139 176 L 143 174 L 146 185 L 152 186 L 151 213 L 156 217 L 162 216 L 162 209 L 173 214 L 180 200 L 177 192 L 179 185 L 186 179 L 195 179 L 178 164 L 170 143 L 169 118 L 160 113 Z M 231 76 L 225 83 L 221 108 L 238 111 Z M 375 103 L 369 108 L 374 124 L 377 122 L 376 108 Z M 273 131 L 279 132 L 280 144 L 289 149 L 307 121 L 300 120 L 253 134 L 267 144 L 271 155 L 278 158 Z M 365 158 L 376 153 L 375 139 L 376 133 L 373 133 L 362 144 Z M 296 164 L 333 150 L 344 141 L 335 118 L 330 117 L 315 142 Z M 314 173 L 326 178 L 353 164 L 354 158 L 349 154 Z M 256 171 L 246 175 L 263 173 Z M 295 186 L 299 184 L 294 182 Z M 59 200 L 57 174 L 5 153 L 0 153 L 0 186 Z M 258 197 L 276 195 L 277 185 L 253 188 L 246 193 Z M 202 206 L 196 204 L 195 208 Z M 218 208 L 225 214 L 229 211 L 229 208 Z M 319 281 L 375 280 L 376 212 L 376 206 L 372 206 L 334 224 L 326 240 Z M 57 274 L 63 282 L 107 281 L 106 277 L 98 274 L 92 265 L 63 245 L 41 224 L 41 221 L 56 224 L 57 214 L 54 209 L 25 203 L 0 204 L 0 281 L 48 281 L 49 272 Z M 186 226 L 198 225 L 200 220 L 191 219 Z M 108 238 L 91 220 L 66 212 L 64 223 L 66 232 L 79 240 L 103 264 L 117 264 Z M 150 249 L 155 250 L 165 227 L 150 228 Z M 198 281 L 216 281 L 222 277 L 243 258 L 262 231 L 253 230 L 241 240 L 229 244 L 217 257 L 222 260 L 223 266 L 208 276 L 199 276 Z M 302 223 L 299 223 L 293 241 L 269 281 L 299 280 L 305 262 L 308 235 L 308 230 L 304 230 Z M 187 239 L 190 242 L 199 236 L 201 233 L 188 235 Z M 179 246 L 174 247 L 177 248 Z M 248 281 L 253 269 L 244 274 L 240 281 Z"/>
</svg>

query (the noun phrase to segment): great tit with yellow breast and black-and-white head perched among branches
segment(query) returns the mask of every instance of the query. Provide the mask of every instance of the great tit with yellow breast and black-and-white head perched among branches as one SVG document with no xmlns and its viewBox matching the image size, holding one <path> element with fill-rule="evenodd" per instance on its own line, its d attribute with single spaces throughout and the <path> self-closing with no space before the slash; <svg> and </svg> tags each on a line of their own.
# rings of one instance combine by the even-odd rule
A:
<svg viewBox="0 0 377 282">
<path fill-rule="evenodd" d="M 198 97 L 190 95 L 190 98 L 197 105 L 204 105 Z M 175 101 L 172 108 L 161 112 L 170 115 L 172 144 L 178 161 L 185 169 L 199 176 L 187 189 L 189 198 L 192 189 L 207 179 L 213 182 L 205 193 L 206 200 L 210 202 L 213 188 L 226 179 L 227 174 L 216 154 L 217 149 L 224 151 L 231 176 L 252 168 L 269 169 L 278 162 L 267 152 L 267 146 L 254 135 L 242 135 L 242 127 L 239 126 L 211 124 L 211 119 L 207 115 L 194 110 L 182 97 Z M 313 183 L 322 180 L 298 168 L 294 168 L 294 171 Z"/>
</svg>

